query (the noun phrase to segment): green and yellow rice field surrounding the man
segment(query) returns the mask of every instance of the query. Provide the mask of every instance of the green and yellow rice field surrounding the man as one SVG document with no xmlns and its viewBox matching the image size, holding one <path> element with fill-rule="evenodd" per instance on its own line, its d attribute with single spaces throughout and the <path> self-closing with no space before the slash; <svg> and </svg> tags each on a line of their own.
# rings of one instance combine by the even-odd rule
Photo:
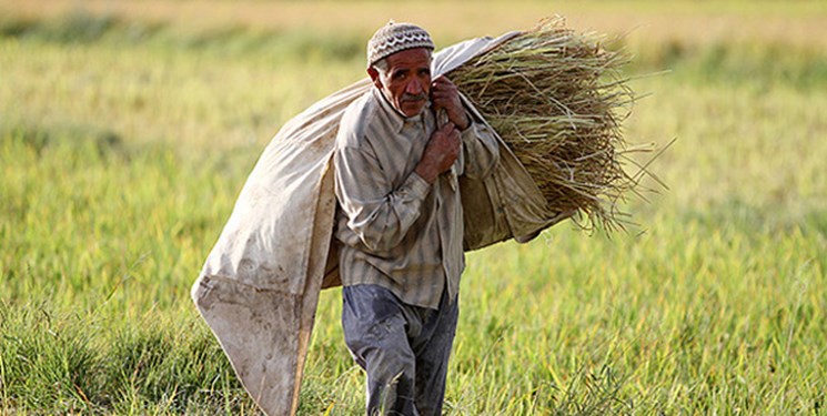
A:
<svg viewBox="0 0 827 416">
<path fill-rule="evenodd" d="M 633 54 L 667 187 L 468 253 L 444 413 L 827 413 L 824 1 L 0 0 L 0 414 L 256 414 L 189 292 L 266 143 L 389 19 L 555 13 Z M 300 415 L 362 412 L 340 295 Z"/>
</svg>

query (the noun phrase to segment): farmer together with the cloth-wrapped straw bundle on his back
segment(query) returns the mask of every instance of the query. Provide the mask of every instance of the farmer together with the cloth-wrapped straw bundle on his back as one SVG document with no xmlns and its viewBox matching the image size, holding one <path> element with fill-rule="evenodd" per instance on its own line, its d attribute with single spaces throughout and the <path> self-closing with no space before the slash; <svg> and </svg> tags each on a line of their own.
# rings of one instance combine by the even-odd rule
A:
<svg viewBox="0 0 827 416">
<path fill-rule="evenodd" d="M 268 414 L 297 407 L 321 288 L 345 286 L 369 413 L 438 414 L 463 252 L 531 240 L 577 212 L 612 223 L 604 200 L 626 177 L 613 148 L 621 101 L 601 74 L 616 61 L 571 40 L 554 50 L 554 37 L 573 35 L 554 30 L 432 57 L 426 31 L 390 23 L 369 42 L 370 80 L 309 108 L 265 149 L 192 296 Z"/>
</svg>

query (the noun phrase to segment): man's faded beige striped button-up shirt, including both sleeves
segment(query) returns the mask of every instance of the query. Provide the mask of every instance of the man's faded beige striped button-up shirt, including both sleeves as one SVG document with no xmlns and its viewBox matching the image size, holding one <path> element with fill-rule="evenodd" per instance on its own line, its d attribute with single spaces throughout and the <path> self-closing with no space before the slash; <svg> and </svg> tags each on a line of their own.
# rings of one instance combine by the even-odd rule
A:
<svg viewBox="0 0 827 416">
<path fill-rule="evenodd" d="M 334 153 L 343 285 L 377 284 L 430 308 L 445 285 L 455 298 L 465 267 L 457 174 L 487 175 L 498 151 L 490 128 L 474 122 L 452 170 L 428 184 L 414 169 L 435 124 L 430 108 L 405 118 L 377 88 L 345 111 Z"/>
</svg>

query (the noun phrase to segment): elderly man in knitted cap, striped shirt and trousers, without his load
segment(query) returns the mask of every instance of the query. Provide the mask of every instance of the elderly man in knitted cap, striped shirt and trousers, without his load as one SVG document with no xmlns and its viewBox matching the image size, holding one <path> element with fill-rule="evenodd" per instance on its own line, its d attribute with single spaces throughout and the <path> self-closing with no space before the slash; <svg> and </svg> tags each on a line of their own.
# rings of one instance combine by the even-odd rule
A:
<svg viewBox="0 0 827 416">
<path fill-rule="evenodd" d="M 431 79 L 433 50 L 414 24 L 376 31 L 374 88 L 347 108 L 336 138 L 342 325 L 367 373 L 369 415 L 441 413 L 464 268 L 457 175 L 482 179 L 498 159 L 456 87 Z"/>
</svg>

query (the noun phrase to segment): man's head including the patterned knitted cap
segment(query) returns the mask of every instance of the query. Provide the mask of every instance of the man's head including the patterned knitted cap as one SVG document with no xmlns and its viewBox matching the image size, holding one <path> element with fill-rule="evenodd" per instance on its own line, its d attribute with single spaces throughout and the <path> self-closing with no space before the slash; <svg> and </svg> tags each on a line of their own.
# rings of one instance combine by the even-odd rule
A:
<svg viewBox="0 0 827 416">
<path fill-rule="evenodd" d="M 405 116 L 420 114 L 427 103 L 433 50 L 431 35 L 411 23 L 387 23 L 367 42 L 367 74 Z"/>
</svg>

